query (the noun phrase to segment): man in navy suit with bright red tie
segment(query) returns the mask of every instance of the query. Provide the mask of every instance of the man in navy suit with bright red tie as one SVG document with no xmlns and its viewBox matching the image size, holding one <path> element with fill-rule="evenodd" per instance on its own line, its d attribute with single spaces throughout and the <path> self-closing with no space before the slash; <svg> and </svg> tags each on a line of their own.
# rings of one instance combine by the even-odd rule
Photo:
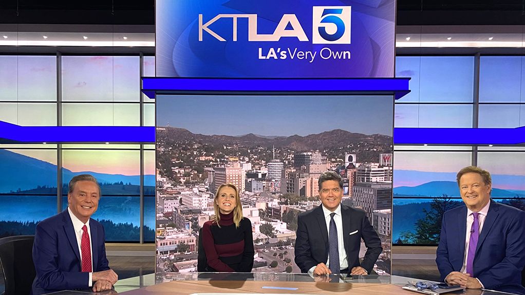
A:
<svg viewBox="0 0 525 295">
<path fill-rule="evenodd" d="M 83 174 L 69 181 L 68 208 L 38 223 L 33 245 L 36 278 L 33 294 L 58 290 L 110 290 L 117 274 L 106 258 L 104 228 L 91 219 L 97 211 L 100 187 Z"/>
</svg>

